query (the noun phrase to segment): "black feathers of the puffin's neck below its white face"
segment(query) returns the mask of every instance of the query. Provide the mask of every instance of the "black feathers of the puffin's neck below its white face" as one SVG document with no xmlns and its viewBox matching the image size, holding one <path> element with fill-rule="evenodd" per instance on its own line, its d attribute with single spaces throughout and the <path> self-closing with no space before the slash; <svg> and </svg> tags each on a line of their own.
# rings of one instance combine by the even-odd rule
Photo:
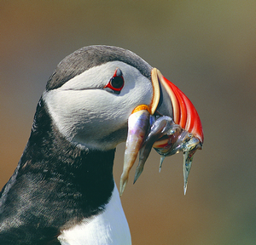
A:
<svg viewBox="0 0 256 245">
<path fill-rule="evenodd" d="M 113 191 L 113 157 L 114 150 L 84 150 L 67 141 L 40 100 L 19 169 L 3 191 L 0 225 L 12 219 L 20 225 L 5 231 L 19 234 L 17 226 L 30 227 L 34 236 L 40 229 L 55 234 L 99 214 Z"/>
</svg>

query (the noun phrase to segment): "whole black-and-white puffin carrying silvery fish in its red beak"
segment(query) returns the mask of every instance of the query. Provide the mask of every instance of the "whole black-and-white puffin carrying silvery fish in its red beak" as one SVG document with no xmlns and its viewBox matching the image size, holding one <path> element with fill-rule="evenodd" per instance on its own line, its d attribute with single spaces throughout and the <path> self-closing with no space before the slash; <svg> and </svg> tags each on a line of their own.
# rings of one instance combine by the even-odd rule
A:
<svg viewBox="0 0 256 245">
<path fill-rule="evenodd" d="M 115 148 L 126 142 L 119 190 Z M 32 130 L 0 194 L 0 244 L 131 244 L 120 202 L 151 149 L 183 153 L 184 193 L 201 120 L 188 97 L 137 54 L 80 48 L 62 60 L 38 101 Z"/>
</svg>

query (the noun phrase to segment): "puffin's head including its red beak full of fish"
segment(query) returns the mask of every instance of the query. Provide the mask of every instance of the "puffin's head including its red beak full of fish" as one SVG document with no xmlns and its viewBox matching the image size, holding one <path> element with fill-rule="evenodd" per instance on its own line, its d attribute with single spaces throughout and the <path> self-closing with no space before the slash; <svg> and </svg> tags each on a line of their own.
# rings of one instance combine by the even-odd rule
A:
<svg viewBox="0 0 256 245">
<path fill-rule="evenodd" d="M 43 100 L 72 144 L 109 151 L 126 141 L 120 195 L 138 152 L 135 180 L 151 148 L 184 153 L 184 185 L 203 133 L 194 105 L 159 70 L 129 50 L 89 46 L 68 55 L 49 77 Z"/>
</svg>

